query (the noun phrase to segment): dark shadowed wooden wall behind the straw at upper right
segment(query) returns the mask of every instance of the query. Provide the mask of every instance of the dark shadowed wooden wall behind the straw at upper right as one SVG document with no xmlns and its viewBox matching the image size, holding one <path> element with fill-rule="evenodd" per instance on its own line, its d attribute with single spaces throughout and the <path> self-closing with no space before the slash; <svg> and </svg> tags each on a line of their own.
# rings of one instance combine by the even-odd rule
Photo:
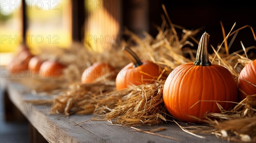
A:
<svg viewBox="0 0 256 143">
<path fill-rule="evenodd" d="M 143 0 L 142 0 L 143 1 Z M 196 39 L 200 39 L 204 31 L 210 34 L 209 44 L 217 47 L 223 41 L 220 21 L 222 21 L 226 33 L 230 31 L 233 24 L 236 22 L 234 29 L 238 29 L 245 25 L 250 25 L 256 30 L 256 9 L 252 2 L 247 0 L 242 1 L 223 1 L 223 0 L 146 0 L 148 5 L 143 9 L 148 8 L 149 17 L 149 33 L 155 36 L 157 30 L 154 24 L 162 23 L 160 14 L 163 14 L 162 3 L 166 6 L 169 17 L 172 23 L 185 27 L 186 29 L 204 29 L 198 33 Z M 136 4 L 137 3 L 137 4 Z M 140 30 L 134 28 L 131 24 L 131 11 L 135 8 L 140 8 L 141 0 L 124 0 L 123 1 L 123 23 L 132 31 Z M 148 7 L 147 7 L 148 6 Z M 145 15 L 147 16 L 147 15 Z M 228 40 L 231 40 L 229 38 Z M 256 41 L 250 28 L 245 28 L 239 31 L 235 42 L 230 48 L 230 52 L 241 49 L 240 41 L 245 47 L 256 46 Z M 197 47 L 195 47 L 197 48 Z M 210 50 L 212 52 L 212 50 Z M 256 56 L 255 56 L 256 57 Z"/>
</svg>

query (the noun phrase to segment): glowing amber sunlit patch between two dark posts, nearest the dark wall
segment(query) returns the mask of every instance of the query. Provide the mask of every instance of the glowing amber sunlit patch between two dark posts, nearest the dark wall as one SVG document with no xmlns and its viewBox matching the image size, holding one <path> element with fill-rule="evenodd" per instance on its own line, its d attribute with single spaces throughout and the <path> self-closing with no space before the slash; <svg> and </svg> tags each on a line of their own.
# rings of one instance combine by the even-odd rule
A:
<svg viewBox="0 0 256 143">
<path fill-rule="evenodd" d="M 86 11 L 84 45 L 93 50 L 109 49 L 112 43 L 120 41 L 119 21 L 121 4 L 115 0 L 85 0 Z"/>
</svg>

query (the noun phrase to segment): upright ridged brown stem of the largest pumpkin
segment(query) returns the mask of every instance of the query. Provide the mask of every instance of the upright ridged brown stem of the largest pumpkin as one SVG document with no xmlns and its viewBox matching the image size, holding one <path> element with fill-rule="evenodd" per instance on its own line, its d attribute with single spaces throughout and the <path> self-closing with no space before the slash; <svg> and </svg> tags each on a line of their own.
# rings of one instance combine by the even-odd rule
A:
<svg viewBox="0 0 256 143">
<path fill-rule="evenodd" d="M 204 32 L 198 45 L 198 51 L 194 63 L 195 66 L 211 66 L 212 63 L 209 62 L 208 57 L 208 42 L 209 34 Z"/>
</svg>

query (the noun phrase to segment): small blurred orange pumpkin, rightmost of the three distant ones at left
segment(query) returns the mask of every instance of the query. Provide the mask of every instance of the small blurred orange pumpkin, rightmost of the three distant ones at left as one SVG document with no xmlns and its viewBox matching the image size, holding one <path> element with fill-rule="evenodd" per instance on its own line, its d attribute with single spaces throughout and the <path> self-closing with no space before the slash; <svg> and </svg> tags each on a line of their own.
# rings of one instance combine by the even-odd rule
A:
<svg viewBox="0 0 256 143">
<path fill-rule="evenodd" d="M 46 60 L 42 63 L 40 66 L 40 69 L 43 72 L 43 77 L 53 77 L 57 78 L 60 77 L 63 73 L 63 69 L 65 69 L 66 66 L 57 62 L 57 61 L 51 61 Z"/>
</svg>

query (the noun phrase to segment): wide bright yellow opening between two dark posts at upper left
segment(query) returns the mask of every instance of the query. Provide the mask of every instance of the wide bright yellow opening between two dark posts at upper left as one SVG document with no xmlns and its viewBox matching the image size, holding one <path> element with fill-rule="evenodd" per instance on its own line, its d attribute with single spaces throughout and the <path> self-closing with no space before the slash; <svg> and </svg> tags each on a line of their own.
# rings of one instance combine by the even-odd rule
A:
<svg viewBox="0 0 256 143">
<path fill-rule="evenodd" d="M 35 0 L 33 2 L 26 0 L 28 18 L 26 43 L 29 48 L 69 46 L 72 42 L 71 1 Z"/>
</svg>

